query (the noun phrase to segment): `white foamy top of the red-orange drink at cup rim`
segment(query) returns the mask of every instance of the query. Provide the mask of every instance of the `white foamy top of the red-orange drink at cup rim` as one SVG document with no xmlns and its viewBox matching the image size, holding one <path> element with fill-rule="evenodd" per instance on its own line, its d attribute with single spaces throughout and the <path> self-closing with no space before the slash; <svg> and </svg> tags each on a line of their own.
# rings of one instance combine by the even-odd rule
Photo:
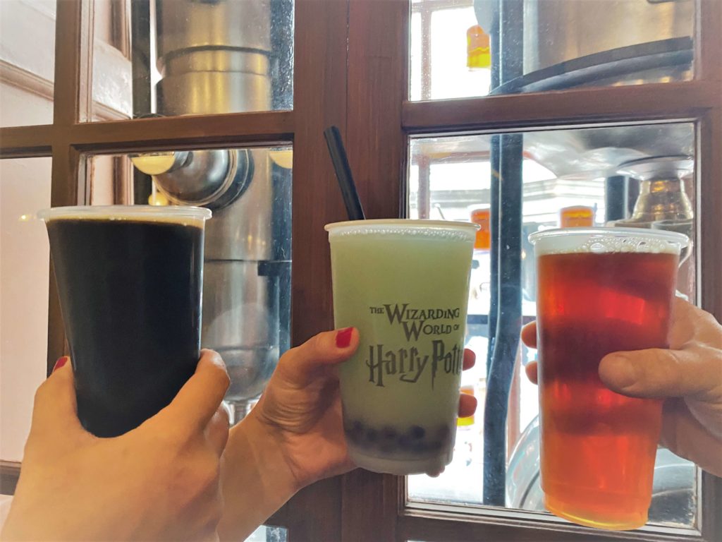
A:
<svg viewBox="0 0 722 542">
<path fill-rule="evenodd" d="M 679 254 L 690 242 L 682 233 L 643 228 L 563 228 L 529 236 L 537 256 L 643 252 Z"/>
</svg>

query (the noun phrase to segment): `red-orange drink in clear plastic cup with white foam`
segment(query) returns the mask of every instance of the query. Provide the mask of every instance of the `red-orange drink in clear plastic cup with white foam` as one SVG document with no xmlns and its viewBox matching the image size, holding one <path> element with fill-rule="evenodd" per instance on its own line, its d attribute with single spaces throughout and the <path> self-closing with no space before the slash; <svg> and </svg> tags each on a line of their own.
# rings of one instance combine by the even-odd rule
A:
<svg viewBox="0 0 722 542">
<path fill-rule="evenodd" d="M 666 348 L 684 236 L 622 228 L 536 233 L 541 487 L 547 509 L 583 525 L 644 525 L 661 402 L 599 379 L 619 350 Z"/>
</svg>

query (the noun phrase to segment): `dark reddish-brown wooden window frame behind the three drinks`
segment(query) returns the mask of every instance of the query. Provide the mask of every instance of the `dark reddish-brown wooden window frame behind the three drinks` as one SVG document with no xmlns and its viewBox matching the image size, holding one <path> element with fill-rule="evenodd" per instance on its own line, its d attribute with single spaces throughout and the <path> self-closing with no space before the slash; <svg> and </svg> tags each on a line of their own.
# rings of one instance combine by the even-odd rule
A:
<svg viewBox="0 0 722 542">
<path fill-rule="evenodd" d="M 330 329 L 331 275 L 325 223 L 344 209 L 323 128 L 344 134 L 367 214 L 403 214 L 409 135 L 485 133 L 544 126 L 690 120 L 697 126 L 702 306 L 722 319 L 722 2 L 699 0 L 690 82 L 409 102 L 408 0 L 295 0 L 294 110 L 132 121 L 91 116 L 92 2 L 59 0 L 53 124 L 0 129 L 0 158 L 51 156 L 51 204 L 87 199 L 86 157 L 199 147 L 292 142 L 295 344 Z M 51 281 L 48 366 L 64 353 Z M 700 536 L 722 536 L 722 483 L 704 473 Z M 243 511 L 239 511 L 243 513 Z M 270 520 L 292 541 L 679 540 L 682 533 L 610 534 L 541 520 L 531 512 L 406 507 L 403 478 L 356 470 L 300 491 Z"/>
</svg>

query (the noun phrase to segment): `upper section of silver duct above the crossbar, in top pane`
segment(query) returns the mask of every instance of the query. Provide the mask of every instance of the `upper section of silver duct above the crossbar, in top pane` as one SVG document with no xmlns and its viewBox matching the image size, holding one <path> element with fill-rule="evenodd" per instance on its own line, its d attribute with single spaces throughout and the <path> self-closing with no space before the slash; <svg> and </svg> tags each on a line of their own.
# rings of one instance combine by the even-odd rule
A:
<svg viewBox="0 0 722 542">
<path fill-rule="evenodd" d="M 271 108 L 270 0 L 156 0 L 158 113 Z"/>
</svg>

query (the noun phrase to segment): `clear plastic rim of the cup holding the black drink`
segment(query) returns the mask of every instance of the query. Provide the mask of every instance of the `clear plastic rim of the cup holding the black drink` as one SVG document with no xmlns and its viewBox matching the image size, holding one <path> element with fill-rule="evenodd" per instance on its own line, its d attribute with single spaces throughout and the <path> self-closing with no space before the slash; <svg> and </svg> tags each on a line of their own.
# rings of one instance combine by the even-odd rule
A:
<svg viewBox="0 0 722 542">
<path fill-rule="evenodd" d="M 191 205 L 69 205 L 40 210 L 37 217 L 44 222 L 73 218 L 173 222 L 179 219 L 204 221 L 211 218 L 212 214 L 210 209 Z"/>
</svg>

